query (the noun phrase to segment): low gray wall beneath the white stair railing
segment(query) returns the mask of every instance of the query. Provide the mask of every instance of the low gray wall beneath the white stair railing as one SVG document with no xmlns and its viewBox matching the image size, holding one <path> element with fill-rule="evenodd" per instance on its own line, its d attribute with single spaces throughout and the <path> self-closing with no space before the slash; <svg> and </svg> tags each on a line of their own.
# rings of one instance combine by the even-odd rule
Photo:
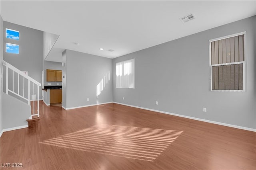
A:
<svg viewBox="0 0 256 170">
<path fill-rule="evenodd" d="M 28 125 L 26 119 L 31 116 L 31 106 L 13 98 L 5 93 L 2 94 L 3 98 L 3 129 L 13 128 Z M 16 106 L 16 107 L 13 107 Z"/>
</svg>

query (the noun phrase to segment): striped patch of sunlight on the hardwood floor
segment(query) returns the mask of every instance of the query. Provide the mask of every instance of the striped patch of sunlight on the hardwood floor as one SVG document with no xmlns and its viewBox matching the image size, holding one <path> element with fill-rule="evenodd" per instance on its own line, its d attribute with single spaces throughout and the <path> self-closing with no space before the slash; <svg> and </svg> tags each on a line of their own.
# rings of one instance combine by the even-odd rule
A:
<svg viewBox="0 0 256 170">
<path fill-rule="evenodd" d="M 154 161 L 182 132 L 142 127 L 95 125 L 39 143 Z"/>
</svg>

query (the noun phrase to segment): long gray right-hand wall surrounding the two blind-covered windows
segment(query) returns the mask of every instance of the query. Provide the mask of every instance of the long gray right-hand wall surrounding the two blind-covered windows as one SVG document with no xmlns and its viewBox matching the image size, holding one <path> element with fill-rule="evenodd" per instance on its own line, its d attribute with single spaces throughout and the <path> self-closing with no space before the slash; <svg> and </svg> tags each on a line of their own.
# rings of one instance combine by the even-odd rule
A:
<svg viewBox="0 0 256 170">
<path fill-rule="evenodd" d="M 113 59 L 113 101 L 256 129 L 255 20 L 253 16 Z M 209 40 L 243 31 L 246 92 L 211 92 Z M 115 65 L 128 59 L 135 59 L 135 89 L 115 88 Z"/>
</svg>

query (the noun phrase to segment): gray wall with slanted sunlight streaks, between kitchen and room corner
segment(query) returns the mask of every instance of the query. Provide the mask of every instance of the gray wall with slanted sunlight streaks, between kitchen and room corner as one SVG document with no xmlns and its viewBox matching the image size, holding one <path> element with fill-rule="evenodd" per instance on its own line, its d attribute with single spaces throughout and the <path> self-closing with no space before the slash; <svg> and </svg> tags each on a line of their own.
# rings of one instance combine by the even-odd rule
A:
<svg viewBox="0 0 256 170">
<path fill-rule="evenodd" d="M 112 101 L 112 59 L 66 50 L 66 108 Z"/>
</svg>

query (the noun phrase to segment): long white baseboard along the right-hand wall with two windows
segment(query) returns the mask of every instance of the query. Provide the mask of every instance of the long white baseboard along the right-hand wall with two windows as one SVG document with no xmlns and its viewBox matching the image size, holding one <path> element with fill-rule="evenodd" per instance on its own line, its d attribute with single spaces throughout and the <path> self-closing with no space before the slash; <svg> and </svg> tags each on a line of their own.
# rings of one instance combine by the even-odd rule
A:
<svg viewBox="0 0 256 170">
<path fill-rule="evenodd" d="M 174 115 L 174 116 L 184 117 L 184 118 L 193 119 L 193 120 L 198 120 L 198 121 L 204 121 L 204 122 L 208 122 L 208 123 L 214 123 L 214 124 L 217 124 L 217 125 L 223 125 L 223 126 L 228 126 L 228 127 L 234 127 L 234 128 L 243 129 L 243 130 L 246 130 L 246 131 L 253 131 L 253 132 L 256 132 L 256 129 L 252 129 L 252 128 L 249 128 L 249 127 L 231 125 L 231 124 L 228 124 L 228 123 L 222 123 L 222 122 L 218 122 L 218 121 L 211 121 L 211 120 L 200 119 L 200 118 L 196 118 L 196 117 L 190 117 L 190 116 L 185 116 L 185 115 L 179 115 L 179 114 L 170 113 L 170 112 L 166 112 L 166 111 L 160 111 L 160 110 L 155 110 L 155 109 L 148 109 L 148 108 L 145 108 L 145 107 L 133 106 L 133 105 L 123 104 L 123 103 L 118 103 L 118 102 L 113 102 L 113 103 L 115 103 L 115 104 L 121 104 L 121 105 L 125 105 L 125 106 L 130 106 L 130 107 L 136 107 L 136 108 L 139 108 L 139 109 L 145 109 L 145 110 L 150 110 L 150 111 L 156 111 L 156 112 L 159 112 L 159 113 L 165 113 L 165 114 L 168 114 L 168 115 Z"/>
</svg>

